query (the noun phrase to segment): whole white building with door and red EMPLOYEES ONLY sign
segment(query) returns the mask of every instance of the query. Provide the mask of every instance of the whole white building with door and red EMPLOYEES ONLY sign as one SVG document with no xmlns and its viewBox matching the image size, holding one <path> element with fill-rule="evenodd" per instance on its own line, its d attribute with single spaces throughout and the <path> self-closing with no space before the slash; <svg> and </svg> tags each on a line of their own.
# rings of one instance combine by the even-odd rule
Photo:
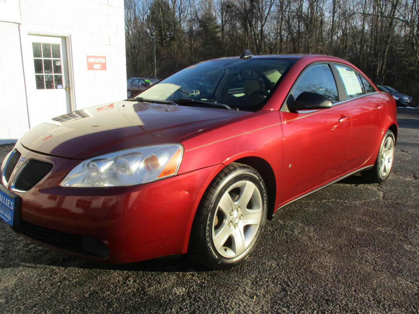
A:
<svg viewBox="0 0 419 314">
<path fill-rule="evenodd" d="M 126 82 L 124 0 L 0 0 L 0 144 Z"/>
</svg>

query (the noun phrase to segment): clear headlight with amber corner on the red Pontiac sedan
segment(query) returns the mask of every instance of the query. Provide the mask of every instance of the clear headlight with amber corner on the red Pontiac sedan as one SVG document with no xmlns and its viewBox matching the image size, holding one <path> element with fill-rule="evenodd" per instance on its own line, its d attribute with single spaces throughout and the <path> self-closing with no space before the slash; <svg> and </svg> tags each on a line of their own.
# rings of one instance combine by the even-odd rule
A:
<svg viewBox="0 0 419 314">
<path fill-rule="evenodd" d="M 164 144 L 96 156 L 75 166 L 60 185 L 110 187 L 168 178 L 177 174 L 182 153 L 180 144 Z"/>
</svg>

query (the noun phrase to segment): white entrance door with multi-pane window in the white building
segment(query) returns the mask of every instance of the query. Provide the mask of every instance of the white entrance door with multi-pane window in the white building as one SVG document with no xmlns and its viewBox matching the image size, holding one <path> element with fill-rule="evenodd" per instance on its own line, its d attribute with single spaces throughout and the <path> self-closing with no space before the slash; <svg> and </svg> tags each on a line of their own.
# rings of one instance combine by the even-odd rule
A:
<svg viewBox="0 0 419 314">
<path fill-rule="evenodd" d="M 65 37 L 27 36 L 24 51 L 30 126 L 71 111 Z"/>
</svg>

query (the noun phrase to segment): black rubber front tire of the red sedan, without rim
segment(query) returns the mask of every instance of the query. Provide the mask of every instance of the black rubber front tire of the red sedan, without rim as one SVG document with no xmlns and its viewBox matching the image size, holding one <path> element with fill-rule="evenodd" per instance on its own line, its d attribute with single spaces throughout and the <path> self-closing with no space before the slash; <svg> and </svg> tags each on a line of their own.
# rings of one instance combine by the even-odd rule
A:
<svg viewBox="0 0 419 314">
<path fill-rule="evenodd" d="M 227 258 L 220 255 L 215 249 L 214 242 L 212 239 L 212 222 L 214 221 L 216 209 L 223 194 L 230 188 L 230 186 L 242 180 L 251 181 L 252 183 L 256 185 L 256 188 L 259 189 L 259 192 L 261 193 L 261 197 L 262 197 L 262 218 L 261 218 L 261 223 L 259 224 L 259 229 L 256 232 L 255 237 L 253 238 L 251 244 L 246 248 L 246 250 L 242 254 L 236 257 Z M 262 230 L 266 222 L 266 211 L 267 211 L 266 188 L 265 188 L 262 178 L 256 172 L 256 170 L 251 171 L 251 169 L 246 169 L 246 170 L 238 170 L 233 173 L 230 173 L 230 175 L 228 175 L 228 177 L 225 178 L 222 181 L 222 184 L 220 184 L 220 186 L 217 188 L 207 208 L 205 240 L 207 243 L 207 254 L 209 255 L 210 259 L 215 264 L 217 264 L 218 267 L 220 268 L 222 268 L 223 266 L 228 267 L 230 265 L 234 265 L 235 263 L 238 263 L 241 260 L 244 260 L 249 255 L 249 253 L 253 250 L 253 248 L 256 246 L 257 242 L 259 241 L 259 238 L 261 236 Z"/>
</svg>

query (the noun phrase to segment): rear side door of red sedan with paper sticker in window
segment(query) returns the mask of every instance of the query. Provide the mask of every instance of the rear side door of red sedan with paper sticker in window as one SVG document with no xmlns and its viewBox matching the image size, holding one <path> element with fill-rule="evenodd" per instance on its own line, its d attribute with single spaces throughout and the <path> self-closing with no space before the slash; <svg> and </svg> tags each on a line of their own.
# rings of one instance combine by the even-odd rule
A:
<svg viewBox="0 0 419 314">
<path fill-rule="evenodd" d="M 349 172 L 364 165 L 380 144 L 384 127 L 384 100 L 360 73 L 347 65 L 334 66 L 339 73 L 338 84 L 344 87 L 345 103 L 352 117 L 347 156 L 342 167 L 342 172 Z"/>
</svg>

